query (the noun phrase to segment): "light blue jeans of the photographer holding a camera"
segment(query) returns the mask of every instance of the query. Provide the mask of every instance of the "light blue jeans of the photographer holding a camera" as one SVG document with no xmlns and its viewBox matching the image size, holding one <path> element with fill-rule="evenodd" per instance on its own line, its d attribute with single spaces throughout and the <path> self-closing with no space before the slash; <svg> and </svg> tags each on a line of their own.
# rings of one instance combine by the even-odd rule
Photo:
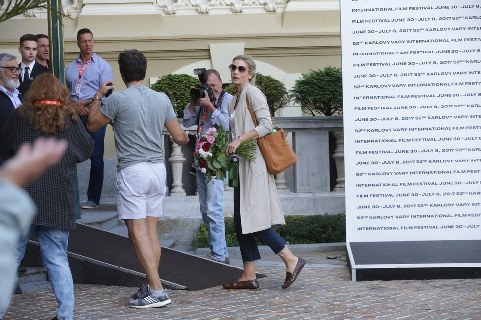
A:
<svg viewBox="0 0 481 320">
<path fill-rule="evenodd" d="M 229 256 L 225 243 L 224 180 L 206 183 L 206 174 L 196 170 L 197 192 L 202 220 L 207 227 L 212 258 L 224 261 Z"/>
</svg>

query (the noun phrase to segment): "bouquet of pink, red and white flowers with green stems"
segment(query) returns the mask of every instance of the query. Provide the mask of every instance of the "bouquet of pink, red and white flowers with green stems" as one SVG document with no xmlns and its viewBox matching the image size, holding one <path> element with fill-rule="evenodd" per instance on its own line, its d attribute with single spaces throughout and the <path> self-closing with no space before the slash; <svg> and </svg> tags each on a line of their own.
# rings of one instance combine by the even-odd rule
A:
<svg viewBox="0 0 481 320">
<path fill-rule="evenodd" d="M 202 173 L 207 176 L 207 181 L 212 178 L 225 179 L 229 167 L 229 156 L 225 149 L 229 143 L 229 131 L 210 128 L 195 144 L 194 161 L 200 167 Z M 242 141 L 236 149 L 236 153 L 250 161 L 255 161 L 257 142 L 254 138 Z"/>
</svg>

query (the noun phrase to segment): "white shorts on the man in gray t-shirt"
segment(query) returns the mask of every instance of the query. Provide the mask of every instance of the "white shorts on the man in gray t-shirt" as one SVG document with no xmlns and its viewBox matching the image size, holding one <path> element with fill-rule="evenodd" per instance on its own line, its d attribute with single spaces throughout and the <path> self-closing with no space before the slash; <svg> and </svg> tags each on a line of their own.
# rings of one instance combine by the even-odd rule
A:
<svg viewBox="0 0 481 320">
<path fill-rule="evenodd" d="M 140 162 L 117 171 L 119 220 L 163 215 L 166 176 L 164 163 Z"/>
</svg>

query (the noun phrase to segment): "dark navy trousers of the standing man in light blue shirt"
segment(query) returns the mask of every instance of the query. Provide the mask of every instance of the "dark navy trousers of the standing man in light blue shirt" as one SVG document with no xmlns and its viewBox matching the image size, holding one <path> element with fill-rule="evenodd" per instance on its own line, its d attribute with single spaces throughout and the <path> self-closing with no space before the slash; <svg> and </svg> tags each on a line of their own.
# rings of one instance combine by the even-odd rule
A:
<svg viewBox="0 0 481 320">
<path fill-rule="evenodd" d="M 81 117 L 82 123 L 87 125 L 87 117 Z M 100 203 L 100 195 L 102 194 L 102 186 L 104 182 L 104 138 L 105 128 L 103 126 L 96 132 L 89 132 L 95 146 L 90 157 L 90 178 L 89 187 L 87 188 L 87 199 L 95 203 Z"/>
</svg>

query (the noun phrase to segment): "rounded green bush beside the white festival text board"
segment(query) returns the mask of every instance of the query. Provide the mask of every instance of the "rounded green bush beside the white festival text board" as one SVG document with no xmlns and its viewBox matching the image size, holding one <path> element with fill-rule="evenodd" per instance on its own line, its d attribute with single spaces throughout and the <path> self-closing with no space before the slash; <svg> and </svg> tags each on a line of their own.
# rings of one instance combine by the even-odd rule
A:
<svg viewBox="0 0 481 320">
<path fill-rule="evenodd" d="M 290 91 L 291 98 L 301 104 L 302 111 L 315 116 L 342 115 L 342 72 L 325 67 L 302 74 Z"/>
</svg>

